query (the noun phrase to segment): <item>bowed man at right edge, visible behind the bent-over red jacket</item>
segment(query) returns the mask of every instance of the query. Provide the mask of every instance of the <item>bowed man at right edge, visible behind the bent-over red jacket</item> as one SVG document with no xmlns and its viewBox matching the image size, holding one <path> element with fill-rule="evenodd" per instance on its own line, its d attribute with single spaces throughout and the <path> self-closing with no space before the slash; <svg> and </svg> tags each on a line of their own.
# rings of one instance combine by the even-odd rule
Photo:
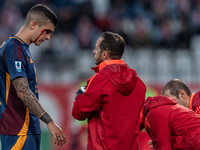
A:
<svg viewBox="0 0 200 150">
<path fill-rule="evenodd" d="M 192 93 L 182 80 L 170 80 L 162 89 L 162 95 L 173 97 L 178 104 L 200 114 L 200 91 Z"/>
</svg>

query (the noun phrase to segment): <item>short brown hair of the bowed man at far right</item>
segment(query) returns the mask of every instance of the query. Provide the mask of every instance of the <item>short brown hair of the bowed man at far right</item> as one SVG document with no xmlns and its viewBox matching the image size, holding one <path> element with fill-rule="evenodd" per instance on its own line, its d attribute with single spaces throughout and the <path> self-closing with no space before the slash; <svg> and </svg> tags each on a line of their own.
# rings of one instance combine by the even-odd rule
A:
<svg viewBox="0 0 200 150">
<path fill-rule="evenodd" d="M 180 79 L 172 79 L 170 80 L 165 87 L 162 89 L 162 95 L 164 95 L 165 91 L 169 90 L 170 94 L 179 98 L 180 90 L 184 90 L 188 96 L 191 96 L 191 91 L 189 87 L 186 85 L 185 82 L 181 81 Z"/>
</svg>

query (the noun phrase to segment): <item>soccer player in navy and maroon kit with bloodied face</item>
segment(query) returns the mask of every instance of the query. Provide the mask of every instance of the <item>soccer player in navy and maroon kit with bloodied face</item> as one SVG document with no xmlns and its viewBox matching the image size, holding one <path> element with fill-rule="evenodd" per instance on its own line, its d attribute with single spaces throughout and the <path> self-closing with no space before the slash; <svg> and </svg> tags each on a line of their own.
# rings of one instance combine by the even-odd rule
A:
<svg viewBox="0 0 200 150">
<path fill-rule="evenodd" d="M 2 150 L 39 150 L 40 122 L 47 124 L 58 146 L 66 143 L 62 129 L 38 99 L 37 73 L 29 45 L 49 40 L 57 25 L 55 13 L 45 5 L 33 6 L 19 32 L 0 48 L 0 134 Z"/>
</svg>

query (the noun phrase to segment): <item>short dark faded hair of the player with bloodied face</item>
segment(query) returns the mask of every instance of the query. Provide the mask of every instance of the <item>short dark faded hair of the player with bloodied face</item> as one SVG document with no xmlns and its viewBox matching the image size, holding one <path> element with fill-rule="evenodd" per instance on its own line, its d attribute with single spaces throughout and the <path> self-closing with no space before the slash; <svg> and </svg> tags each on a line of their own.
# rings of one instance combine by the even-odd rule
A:
<svg viewBox="0 0 200 150">
<path fill-rule="evenodd" d="M 41 27 L 50 21 L 54 26 L 57 26 L 58 19 L 56 14 L 47 6 L 43 4 L 37 4 L 33 6 L 26 15 L 26 25 L 31 21 L 37 21 Z"/>
</svg>

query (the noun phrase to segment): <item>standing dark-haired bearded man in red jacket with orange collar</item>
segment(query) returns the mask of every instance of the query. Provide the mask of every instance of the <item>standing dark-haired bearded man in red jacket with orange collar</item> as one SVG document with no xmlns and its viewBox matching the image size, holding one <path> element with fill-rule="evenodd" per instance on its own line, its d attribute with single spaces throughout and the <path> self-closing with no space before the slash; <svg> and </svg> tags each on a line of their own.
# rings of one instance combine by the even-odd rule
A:
<svg viewBox="0 0 200 150">
<path fill-rule="evenodd" d="M 93 50 L 96 74 L 79 89 L 72 115 L 88 119 L 87 150 L 137 150 L 146 86 L 121 59 L 124 39 L 104 32 Z"/>
</svg>

